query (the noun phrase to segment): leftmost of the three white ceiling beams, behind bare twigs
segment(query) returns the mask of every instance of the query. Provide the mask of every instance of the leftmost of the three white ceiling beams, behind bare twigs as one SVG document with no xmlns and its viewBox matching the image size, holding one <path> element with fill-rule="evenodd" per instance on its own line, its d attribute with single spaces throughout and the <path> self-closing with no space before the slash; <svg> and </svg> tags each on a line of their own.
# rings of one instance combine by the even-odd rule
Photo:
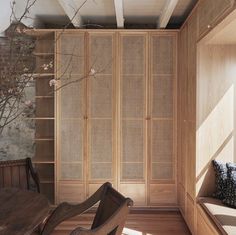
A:
<svg viewBox="0 0 236 235">
<path fill-rule="evenodd" d="M 78 7 L 76 6 L 74 0 L 58 0 L 58 2 L 63 8 L 65 14 L 69 17 L 71 23 L 76 28 L 81 28 L 83 25 L 83 22 L 78 12 Z"/>
</svg>

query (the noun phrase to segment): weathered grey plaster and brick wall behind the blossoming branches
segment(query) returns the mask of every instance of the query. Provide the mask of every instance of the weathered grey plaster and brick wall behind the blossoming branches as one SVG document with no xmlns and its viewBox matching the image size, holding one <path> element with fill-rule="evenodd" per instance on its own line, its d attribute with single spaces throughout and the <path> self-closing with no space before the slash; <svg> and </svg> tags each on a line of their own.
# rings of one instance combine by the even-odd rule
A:
<svg viewBox="0 0 236 235">
<path fill-rule="evenodd" d="M 7 69 L 9 40 L 0 37 L 0 73 Z M 33 101 L 35 86 L 31 82 L 25 91 L 25 100 Z M 22 104 L 23 108 L 25 104 Z M 20 159 L 34 156 L 34 120 L 20 116 L 10 123 L 0 135 L 0 160 Z"/>
</svg>

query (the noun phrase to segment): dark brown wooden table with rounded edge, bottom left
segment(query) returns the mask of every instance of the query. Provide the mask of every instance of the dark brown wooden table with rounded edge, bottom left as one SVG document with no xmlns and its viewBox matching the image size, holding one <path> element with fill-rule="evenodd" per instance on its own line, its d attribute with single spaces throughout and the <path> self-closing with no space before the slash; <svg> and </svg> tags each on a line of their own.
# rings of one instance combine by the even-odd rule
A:
<svg viewBox="0 0 236 235">
<path fill-rule="evenodd" d="M 49 209 L 48 200 L 42 194 L 16 188 L 0 189 L 0 234 L 31 234 Z"/>
</svg>

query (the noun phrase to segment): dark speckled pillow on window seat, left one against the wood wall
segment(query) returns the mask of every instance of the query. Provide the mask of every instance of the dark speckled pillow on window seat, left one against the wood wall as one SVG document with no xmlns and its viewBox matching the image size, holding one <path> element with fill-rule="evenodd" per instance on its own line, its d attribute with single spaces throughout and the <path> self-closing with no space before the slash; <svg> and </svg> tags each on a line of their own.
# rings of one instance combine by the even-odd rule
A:
<svg viewBox="0 0 236 235">
<path fill-rule="evenodd" d="M 213 160 L 212 161 L 215 170 L 215 186 L 216 191 L 213 197 L 223 200 L 225 198 L 225 189 L 227 183 L 227 167 L 226 163 Z"/>
</svg>

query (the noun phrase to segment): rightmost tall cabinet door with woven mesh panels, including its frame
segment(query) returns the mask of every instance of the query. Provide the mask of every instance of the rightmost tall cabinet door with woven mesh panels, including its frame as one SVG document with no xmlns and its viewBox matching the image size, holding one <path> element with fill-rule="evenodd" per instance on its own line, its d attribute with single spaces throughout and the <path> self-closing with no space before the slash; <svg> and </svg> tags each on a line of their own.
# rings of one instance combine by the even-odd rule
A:
<svg viewBox="0 0 236 235">
<path fill-rule="evenodd" d="M 176 38 L 152 34 L 150 42 L 149 201 L 176 204 Z"/>
</svg>

